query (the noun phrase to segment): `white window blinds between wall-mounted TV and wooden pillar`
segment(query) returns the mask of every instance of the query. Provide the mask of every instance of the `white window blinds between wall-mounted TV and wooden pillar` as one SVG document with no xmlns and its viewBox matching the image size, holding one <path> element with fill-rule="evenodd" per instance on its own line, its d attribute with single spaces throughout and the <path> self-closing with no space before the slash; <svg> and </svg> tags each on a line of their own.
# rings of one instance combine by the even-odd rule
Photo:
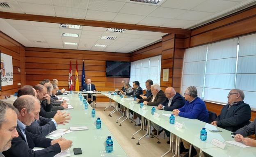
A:
<svg viewBox="0 0 256 157">
<path fill-rule="evenodd" d="M 154 84 L 160 84 L 161 55 L 131 62 L 130 85 L 139 81 L 140 86 L 146 89 L 146 80 L 153 80 Z"/>
</svg>

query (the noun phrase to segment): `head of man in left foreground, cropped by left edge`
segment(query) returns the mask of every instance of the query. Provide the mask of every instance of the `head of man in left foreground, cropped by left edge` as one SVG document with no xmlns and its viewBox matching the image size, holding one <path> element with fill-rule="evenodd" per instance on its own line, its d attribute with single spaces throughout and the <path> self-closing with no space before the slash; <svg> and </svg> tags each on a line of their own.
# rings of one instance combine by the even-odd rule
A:
<svg viewBox="0 0 256 157">
<path fill-rule="evenodd" d="M 11 140 L 18 137 L 17 115 L 18 110 L 13 105 L 0 100 L 0 157 L 11 148 Z"/>
</svg>

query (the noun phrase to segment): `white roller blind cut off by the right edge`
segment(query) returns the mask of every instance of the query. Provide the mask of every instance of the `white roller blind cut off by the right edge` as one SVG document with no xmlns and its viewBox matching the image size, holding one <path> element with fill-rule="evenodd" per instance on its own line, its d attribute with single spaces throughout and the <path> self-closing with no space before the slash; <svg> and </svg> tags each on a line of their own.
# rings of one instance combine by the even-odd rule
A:
<svg viewBox="0 0 256 157">
<path fill-rule="evenodd" d="M 239 38 L 236 87 L 245 93 L 245 103 L 256 110 L 256 34 Z"/>
</svg>

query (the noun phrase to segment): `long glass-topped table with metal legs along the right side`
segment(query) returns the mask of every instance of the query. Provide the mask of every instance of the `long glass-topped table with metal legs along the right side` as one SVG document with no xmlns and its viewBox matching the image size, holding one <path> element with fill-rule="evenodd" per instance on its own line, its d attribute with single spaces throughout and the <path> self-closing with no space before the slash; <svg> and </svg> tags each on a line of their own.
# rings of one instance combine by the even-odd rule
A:
<svg viewBox="0 0 256 157">
<path fill-rule="evenodd" d="M 138 113 L 145 119 L 147 119 L 150 122 L 153 122 L 162 128 L 165 128 L 171 133 L 171 137 L 174 137 L 173 135 L 176 135 L 176 140 L 180 141 L 180 139 L 184 139 L 185 141 L 189 142 L 190 144 L 196 146 L 200 149 L 199 157 L 201 157 L 202 152 L 205 152 L 213 157 L 241 157 L 241 156 L 248 156 L 248 157 L 256 157 L 256 148 L 255 147 L 248 147 L 248 148 L 242 148 L 239 146 L 235 146 L 233 144 L 226 143 L 226 141 L 234 140 L 231 137 L 231 131 L 225 130 L 223 128 L 219 128 L 217 126 L 213 126 L 211 124 L 202 122 L 198 119 L 188 119 L 184 117 L 175 116 L 175 122 L 178 122 L 179 124 L 182 124 L 182 127 L 179 128 L 177 126 L 174 126 L 174 124 L 169 123 L 169 117 L 165 114 L 172 114 L 170 111 L 163 111 L 156 109 L 155 115 L 151 114 L 151 109 L 153 106 L 145 106 L 144 109 L 140 108 L 140 104 L 133 101 L 132 98 L 121 98 L 119 95 L 111 95 L 107 92 L 101 92 L 102 95 L 105 95 L 106 97 L 109 97 L 110 100 L 114 100 L 115 102 L 121 104 L 125 108 L 134 111 L 135 113 Z M 156 107 L 155 107 L 156 108 Z M 127 114 L 129 116 L 129 114 Z M 207 131 L 207 139 L 206 141 L 201 141 L 200 139 L 200 131 L 202 128 L 206 128 Z M 148 126 L 148 129 L 150 129 L 150 126 Z M 210 132 L 210 130 L 218 129 L 222 132 Z M 144 129 L 143 129 L 144 130 Z M 147 130 L 149 133 L 149 131 Z M 150 135 L 150 134 L 148 134 Z M 226 144 L 225 148 L 219 148 L 213 144 L 211 144 L 212 140 L 216 139 L 219 142 L 223 142 Z M 173 139 L 171 139 L 173 141 Z M 170 148 L 167 153 L 172 152 L 173 146 L 171 145 L 172 142 L 170 142 Z M 176 142 L 176 152 L 179 152 L 179 142 Z M 166 154 L 167 154 L 166 153 Z M 163 156 L 165 156 L 164 154 Z M 176 156 L 178 154 L 176 153 Z"/>
</svg>

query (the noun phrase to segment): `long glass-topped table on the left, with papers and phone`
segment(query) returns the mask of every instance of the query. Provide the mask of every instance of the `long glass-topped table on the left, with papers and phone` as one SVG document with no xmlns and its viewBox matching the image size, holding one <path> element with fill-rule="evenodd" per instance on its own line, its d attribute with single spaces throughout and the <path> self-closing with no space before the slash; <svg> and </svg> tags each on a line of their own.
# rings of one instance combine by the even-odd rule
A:
<svg viewBox="0 0 256 157">
<path fill-rule="evenodd" d="M 69 129 L 70 127 L 79 126 L 87 126 L 89 128 L 88 130 L 72 131 L 62 136 L 65 139 L 73 141 L 73 146 L 69 149 L 71 157 L 128 157 L 102 121 L 101 128 L 96 129 L 97 112 L 95 117 L 91 117 L 92 107 L 88 104 L 88 109 L 85 109 L 82 101 L 78 98 L 78 94 L 61 95 L 61 97 L 64 99 L 68 98 L 69 101 L 67 102 L 73 106 L 73 109 L 64 110 L 66 113 L 70 113 L 72 118 L 66 125 L 58 125 L 57 129 Z M 111 153 L 106 153 L 105 151 L 105 140 L 107 136 L 111 136 L 113 140 L 113 151 Z M 59 138 L 47 137 L 52 139 Z M 73 148 L 81 148 L 82 154 L 74 155 Z"/>
</svg>

